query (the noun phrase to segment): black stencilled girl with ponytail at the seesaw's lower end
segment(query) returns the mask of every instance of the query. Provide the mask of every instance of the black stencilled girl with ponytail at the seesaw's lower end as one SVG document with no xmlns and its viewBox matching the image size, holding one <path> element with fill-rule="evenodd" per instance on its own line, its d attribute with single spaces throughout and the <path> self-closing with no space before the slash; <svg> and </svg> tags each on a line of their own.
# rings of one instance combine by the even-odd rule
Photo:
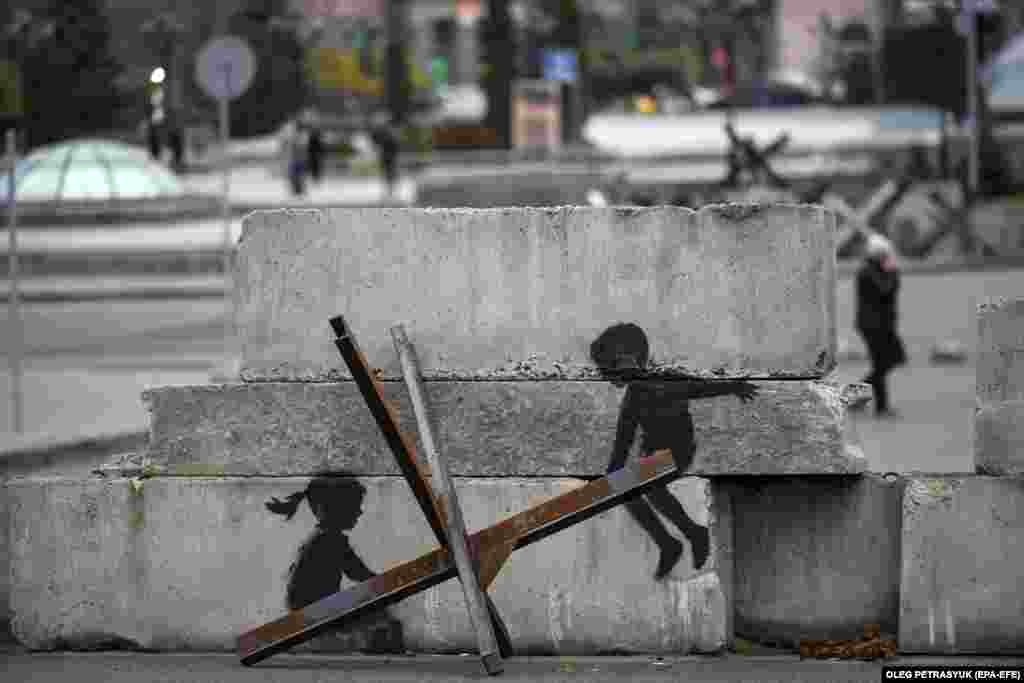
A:
<svg viewBox="0 0 1024 683">
<path fill-rule="evenodd" d="M 331 473 L 314 477 L 304 490 L 284 501 L 272 498 L 266 503 L 267 510 L 290 520 L 305 501 L 316 518 L 316 527 L 299 547 L 298 557 L 288 570 L 289 609 L 301 609 L 337 593 L 343 577 L 361 583 L 376 575 L 352 549 L 347 535 L 362 514 L 366 495 L 366 487 L 350 474 Z M 404 651 L 401 623 L 387 612 L 383 620 L 381 612 L 377 614 L 359 621 L 360 627 L 371 630 L 365 649 Z"/>
</svg>

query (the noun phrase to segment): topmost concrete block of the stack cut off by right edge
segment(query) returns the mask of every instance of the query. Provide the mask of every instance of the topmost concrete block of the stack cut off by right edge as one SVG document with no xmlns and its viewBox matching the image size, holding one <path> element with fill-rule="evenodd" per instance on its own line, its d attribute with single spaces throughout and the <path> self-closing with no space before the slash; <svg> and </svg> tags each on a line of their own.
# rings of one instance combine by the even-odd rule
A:
<svg viewBox="0 0 1024 683">
<path fill-rule="evenodd" d="M 1024 400 L 1024 299 L 978 306 L 978 399 Z"/>
</svg>

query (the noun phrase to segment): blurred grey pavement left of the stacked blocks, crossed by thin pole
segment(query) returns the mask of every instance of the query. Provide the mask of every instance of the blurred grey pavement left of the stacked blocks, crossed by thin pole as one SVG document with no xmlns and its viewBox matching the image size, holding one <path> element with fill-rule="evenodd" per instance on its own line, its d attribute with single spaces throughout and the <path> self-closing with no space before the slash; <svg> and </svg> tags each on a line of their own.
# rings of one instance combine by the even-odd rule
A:
<svg viewBox="0 0 1024 683">
<path fill-rule="evenodd" d="M 144 432 L 140 394 L 206 384 L 230 356 L 223 298 L 34 303 L 23 310 L 25 433 L 12 425 L 9 362 L 0 369 L 0 453 Z M 0 326 L 10 360 L 14 328 Z"/>
</svg>

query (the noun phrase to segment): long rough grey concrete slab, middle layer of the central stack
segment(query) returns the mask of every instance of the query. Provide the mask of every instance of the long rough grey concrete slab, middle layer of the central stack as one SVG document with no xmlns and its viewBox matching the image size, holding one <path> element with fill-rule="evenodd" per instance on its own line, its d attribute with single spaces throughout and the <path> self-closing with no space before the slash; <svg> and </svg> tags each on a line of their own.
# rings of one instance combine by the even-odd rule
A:
<svg viewBox="0 0 1024 683">
<path fill-rule="evenodd" d="M 403 428 L 417 434 L 404 384 L 382 384 Z M 462 476 L 603 474 L 625 394 L 605 382 L 425 385 L 445 460 Z M 748 403 L 731 395 L 689 401 L 697 443 L 692 472 L 864 471 L 866 461 L 847 433 L 852 421 L 844 388 L 825 382 L 757 387 Z M 148 463 L 165 474 L 399 473 L 353 382 L 165 387 L 143 398 L 153 416 Z"/>
</svg>

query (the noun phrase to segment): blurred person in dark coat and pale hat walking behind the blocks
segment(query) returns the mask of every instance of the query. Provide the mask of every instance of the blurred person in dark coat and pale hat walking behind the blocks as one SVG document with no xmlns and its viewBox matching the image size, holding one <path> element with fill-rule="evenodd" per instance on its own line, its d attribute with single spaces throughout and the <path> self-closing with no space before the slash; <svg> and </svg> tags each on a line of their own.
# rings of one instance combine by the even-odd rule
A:
<svg viewBox="0 0 1024 683">
<path fill-rule="evenodd" d="M 871 359 L 871 372 L 864 382 L 874 393 L 876 414 L 890 417 L 896 414 L 889 404 L 887 377 L 894 368 L 906 364 L 906 350 L 896 331 L 900 274 L 892 244 L 881 234 L 867 238 L 863 254 L 856 281 L 856 326 Z"/>
</svg>

